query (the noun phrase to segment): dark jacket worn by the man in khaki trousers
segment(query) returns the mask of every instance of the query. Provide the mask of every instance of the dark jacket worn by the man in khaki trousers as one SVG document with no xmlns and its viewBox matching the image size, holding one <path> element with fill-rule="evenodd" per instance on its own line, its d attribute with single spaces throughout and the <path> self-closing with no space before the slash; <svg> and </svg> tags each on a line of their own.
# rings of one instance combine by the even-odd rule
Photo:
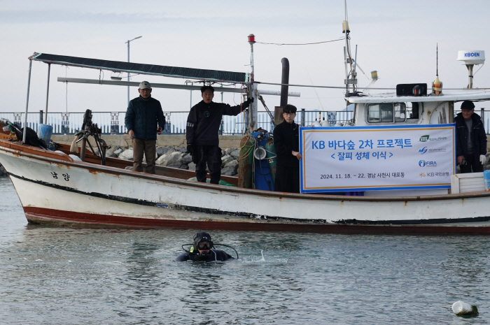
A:
<svg viewBox="0 0 490 325">
<path fill-rule="evenodd" d="M 134 131 L 134 138 L 156 140 L 157 128 L 165 128 L 165 116 L 160 101 L 153 97 L 143 99 L 141 96 L 133 99 L 127 106 L 124 122 L 128 132 Z"/>
</svg>

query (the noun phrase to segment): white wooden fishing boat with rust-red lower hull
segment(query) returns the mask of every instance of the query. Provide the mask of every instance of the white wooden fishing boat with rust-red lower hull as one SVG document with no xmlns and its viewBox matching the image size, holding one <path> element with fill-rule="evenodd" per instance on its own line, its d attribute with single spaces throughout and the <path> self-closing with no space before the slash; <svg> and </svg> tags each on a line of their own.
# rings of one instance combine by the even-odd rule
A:
<svg viewBox="0 0 490 325">
<path fill-rule="evenodd" d="M 249 37 L 249 41 L 253 39 Z M 260 94 L 258 82 L 251 78 L 253 74 L 39 53 L 29 57 L 29 62 L 33 61 L 118 72 L 225 80 L 241 83 L 248 88 L 250 96 Z M 412 86 L 410 91 L 414 89 Z M 437 96 L 418 93 L 417 96 L 368 96 L 356 89 L 346 96 L 346 101 L 355 106 L 353 125 L 374 122 L 451 124 L 454 103 L 464 100 L 488 101 L 490 91 L 461 90 L 455 94 L 444 91 Z M 400 116 L 400 110 L 392 112 L 399 114 L 398 120 L 394 117 L 389 121 L 382 120 L 384 117 L 370 114 L 370 108 L 375 105 L 395 108 L 400 103 L 406 105 L 403 116 Z M 248 114 L 249 127 L 253 131 L 253 127 L 256 129 L 256 124 L 253 125 L 256 106 L 252 106 Z M 372 120 L 377 118 L 380 120 Z M 89 124 L 85 125 L 85 134 L 94 135 L 97 126 Z M 432 192 L 412 189 L 405 192 L 380 191 L 376 196 L 290 194 L 195 182 L 189 180 L 194 176 L 193 172 L 177 168 L 157 166 L 156 175 L 131 171 L 126 169 L 132 165 L 131 161 L 97 155 L 85 147 L 73 157 L 67 145 L 57 145 L 57 151 L 27 145 L 26 133 L 23 133 L 22 140 L 0 138 L 0 164 L 8 172 L 31 223 L 328 233 L 490 234 L 490 191 L 484 190 L 482 173 L 475 173 L 471 178 L 452 175 L 454 184 L 449 189 Z M 223 176 L 222 179 L 230 185 L 240 184 L 238 178 Z M 465 183 L 466 180 L 471 182 Z"/>
</svg>

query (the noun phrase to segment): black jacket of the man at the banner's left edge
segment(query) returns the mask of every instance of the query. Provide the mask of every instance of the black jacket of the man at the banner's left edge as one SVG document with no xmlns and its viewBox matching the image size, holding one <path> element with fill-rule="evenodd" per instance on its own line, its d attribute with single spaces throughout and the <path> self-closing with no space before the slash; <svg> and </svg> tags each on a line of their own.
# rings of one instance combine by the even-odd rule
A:
<svg viewBox="0 0 490 325">
<path fill-rule="evenodd" d="M 278 166 L 300 166 L 300 161 L 291 154 L 300 151 L 300 128 L 295 122 L 284 121 L 274 128 L 274 148 Z"/>
</svg>

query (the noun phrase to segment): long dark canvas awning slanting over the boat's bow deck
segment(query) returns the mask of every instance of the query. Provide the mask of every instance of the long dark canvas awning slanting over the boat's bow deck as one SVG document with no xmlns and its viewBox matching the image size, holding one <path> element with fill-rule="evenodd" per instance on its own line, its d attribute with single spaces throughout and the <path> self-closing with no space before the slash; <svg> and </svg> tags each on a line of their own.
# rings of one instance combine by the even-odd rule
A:
<svg viewBox="0 0 490 325">
<path fill-rule="evenodd" d="M 211 80 L 221 82 L 242 83 L 248 81 L 248 73 L 199 68 L 181 68 L 179 66 L 158 66 L 155 64 L 140 64 L 132 62 L 109 61 L 101 59 L 87 59 L 85 57 L 68 57 L 66 55 L 50 55 L 47 53 L 34 53 L 29 59 L 48 64 L 62 66 L 78 66 L 80 68 L 96 68 L 114 72 L 138 73 L 142 75 L 162 75 L 172 78 L 186 78 Z"/>
</svg>

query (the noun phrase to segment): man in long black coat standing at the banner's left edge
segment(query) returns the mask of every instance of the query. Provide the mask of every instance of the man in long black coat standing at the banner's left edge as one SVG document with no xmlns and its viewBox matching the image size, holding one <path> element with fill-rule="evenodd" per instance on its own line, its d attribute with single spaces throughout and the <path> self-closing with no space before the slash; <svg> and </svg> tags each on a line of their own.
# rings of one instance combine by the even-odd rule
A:
<svg viewBox="0 0 490 325">
<path fill-rule="evenodd" d="M 300 193 L 300 130 L 294 122 L 296 107 L 286 105 L 284 122 L 274 128 L 274 147 L 277 155 L 276 192 Z"/>
</svg>

